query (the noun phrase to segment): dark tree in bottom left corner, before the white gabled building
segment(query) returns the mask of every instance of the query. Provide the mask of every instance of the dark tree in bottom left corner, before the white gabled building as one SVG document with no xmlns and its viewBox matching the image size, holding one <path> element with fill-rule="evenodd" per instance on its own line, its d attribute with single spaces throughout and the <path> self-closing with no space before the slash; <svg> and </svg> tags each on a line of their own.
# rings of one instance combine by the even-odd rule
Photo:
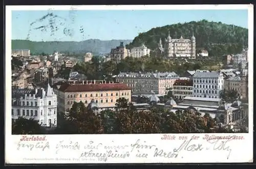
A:
<svg viewBox="0 0 256 169">
<path fill-rule="evenodd" d="M 12 121 L 12 134 L 42 134 L 37 120 L 19 117 Z"/>
</svg>

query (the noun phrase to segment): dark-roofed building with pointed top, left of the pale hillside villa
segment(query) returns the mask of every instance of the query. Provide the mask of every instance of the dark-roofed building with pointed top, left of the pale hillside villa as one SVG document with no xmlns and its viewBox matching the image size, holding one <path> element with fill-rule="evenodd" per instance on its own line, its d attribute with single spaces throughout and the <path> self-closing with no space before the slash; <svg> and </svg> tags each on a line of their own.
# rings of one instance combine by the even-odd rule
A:
<svg viewBox="0 0 256 169">
<path fill-rule="evenodd" d="M 123 45 L 123 42 L 120 42 L 120 45 L 115 49 L 111 49 L 110 57 L 111 60 L 114 60 L 116 63 L 119 63 L 122 59 L 131 56 L 130 50 L 126 49 Z"/>
</svg>

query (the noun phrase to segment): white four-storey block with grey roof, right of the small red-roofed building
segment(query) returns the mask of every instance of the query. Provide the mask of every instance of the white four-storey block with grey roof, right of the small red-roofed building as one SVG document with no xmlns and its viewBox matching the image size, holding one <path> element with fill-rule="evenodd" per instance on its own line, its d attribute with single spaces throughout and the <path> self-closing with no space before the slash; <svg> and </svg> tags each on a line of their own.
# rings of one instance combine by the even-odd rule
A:
<svg viewBox="0 0 256 169">
<path fill-rule="evenodd" d="M 193 76 L 193 96 L 201 98 L 220 98 L 224 89 L 222 73 L 197 72 Z"/>
</svg>

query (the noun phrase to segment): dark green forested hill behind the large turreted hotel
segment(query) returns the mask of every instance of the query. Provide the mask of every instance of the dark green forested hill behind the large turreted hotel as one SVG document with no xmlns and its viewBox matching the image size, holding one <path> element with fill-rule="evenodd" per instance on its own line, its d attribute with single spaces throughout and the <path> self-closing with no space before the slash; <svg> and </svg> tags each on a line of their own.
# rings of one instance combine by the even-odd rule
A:
<svg viewBox="0 0 256 169">
<path fill-rule="evenodd" d="M 209 56 L 240 53 L 243 46 L 248 46 L 248 29 L 222 22 L 201 20 L 153 28 L 140 33 L 126 47 L 131 49 L 144 43 L 154 50 L 160 38 L 163 43 L 168 31 L 173 39 L 178 39 L 181 35 L 183 38 L 191 38 L 194 33 L 197 50 L 204 48 L 208 50 Z"/>
</svg>

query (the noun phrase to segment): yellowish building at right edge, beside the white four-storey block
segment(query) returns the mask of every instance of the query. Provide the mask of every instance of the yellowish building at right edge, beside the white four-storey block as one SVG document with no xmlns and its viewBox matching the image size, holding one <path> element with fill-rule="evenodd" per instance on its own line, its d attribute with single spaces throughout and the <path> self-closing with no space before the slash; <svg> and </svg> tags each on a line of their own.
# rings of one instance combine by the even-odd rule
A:
<svg viewBox="0 0 256 169">
<path fill-rule="evenodd" d="M 237 91 L 241 99 L 248 100 L 248 76 L 230 77 L 224 82 L 225 90 Z"/>
</svg>

